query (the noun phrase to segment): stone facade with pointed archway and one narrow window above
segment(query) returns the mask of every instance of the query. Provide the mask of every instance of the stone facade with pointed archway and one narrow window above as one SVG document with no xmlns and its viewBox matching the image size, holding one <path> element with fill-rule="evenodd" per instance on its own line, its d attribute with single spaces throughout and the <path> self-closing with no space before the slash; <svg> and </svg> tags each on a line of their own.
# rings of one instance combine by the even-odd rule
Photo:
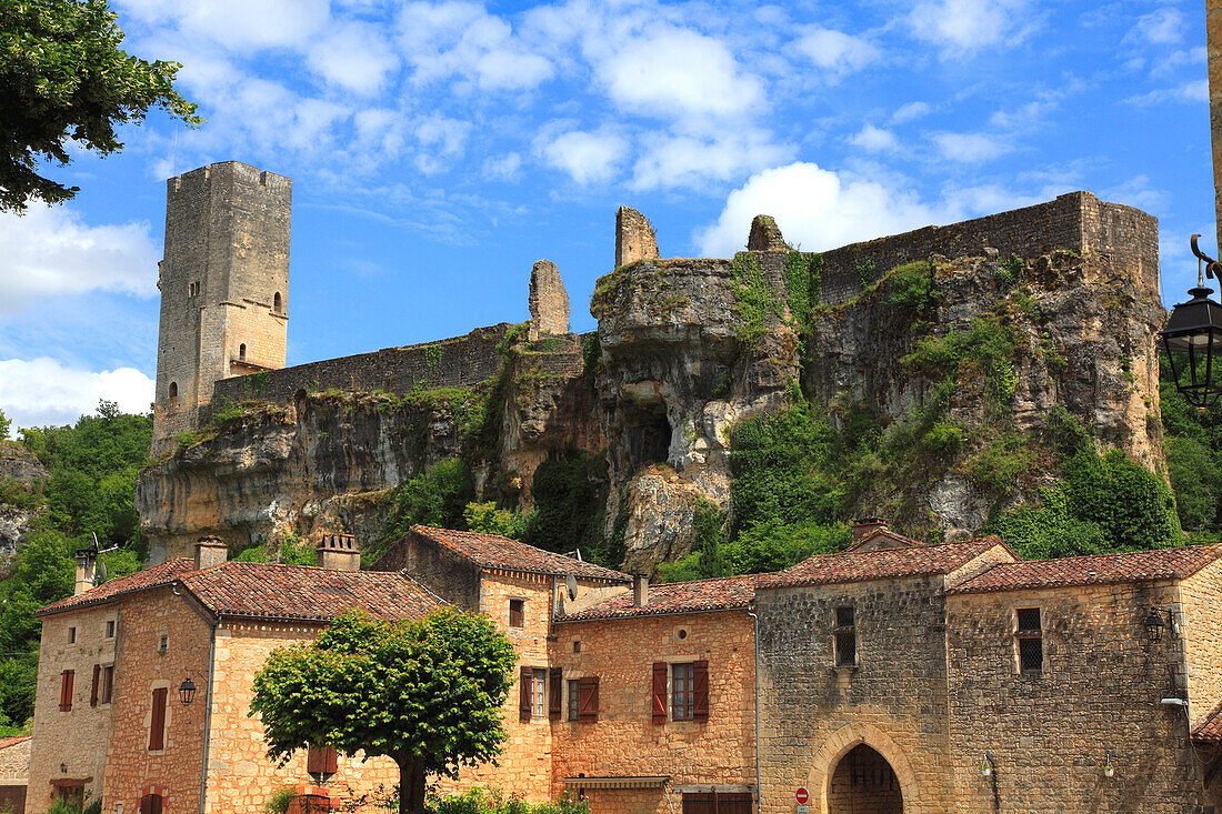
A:
<svg viewBox="0 0 1222 814">
<path fill-rule="evenodd" d="M 857 666 L 833 666 L 836 609 L 852 606 Z M 756 592 L 763 812 L 805 786 L 824 812 L 841 758 L 865 743 L 891 764 L 906 814 L 947 804 L 945 599 L 940 577 Z"/>
</svg>

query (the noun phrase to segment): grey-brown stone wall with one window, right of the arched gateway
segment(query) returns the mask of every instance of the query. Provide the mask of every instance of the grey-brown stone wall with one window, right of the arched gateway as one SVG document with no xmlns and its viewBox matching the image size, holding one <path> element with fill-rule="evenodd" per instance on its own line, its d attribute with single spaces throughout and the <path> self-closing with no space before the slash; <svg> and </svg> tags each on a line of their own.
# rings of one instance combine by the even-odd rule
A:
<svg viewBox="0 0 1222 814">
<path fill-rule="evenodd" d="M 957 812 L 1204 810 L 1183 697 L 1180 643 L 1141 622 L 1177 601 L 1171 583 L 952 593 L 951 779 Z M 1015 610 L 1039 607 L 1042 675 L 1020 675 Z M 996 770 L 981 776 L 984 754 Z M 1114 776 L 1103 772 L 1112 754 Z"/>
</svg>

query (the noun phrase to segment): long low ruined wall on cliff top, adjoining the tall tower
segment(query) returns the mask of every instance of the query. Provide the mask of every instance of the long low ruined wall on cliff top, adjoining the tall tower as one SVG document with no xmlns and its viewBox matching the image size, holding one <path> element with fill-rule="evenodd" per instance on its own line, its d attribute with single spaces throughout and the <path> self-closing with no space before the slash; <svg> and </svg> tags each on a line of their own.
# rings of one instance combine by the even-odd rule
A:
<svg viewBox="0 0 1222 814">
<path fill-rule="evenodd" d="M 496 375 L 501 356 L 496 346 L 510 329 L 508 323 L 477 328 L 466 336 L 391 347 L 324 362 L 295 364 L 254 375 L 216 383 L 213 408 L 248 398 L 287 403 L 298 390 L 356 390 L 411 392 L 420 387 L 469 387 Z M 210 409 L 203 411 L 203 417 Z"/>
</svg>

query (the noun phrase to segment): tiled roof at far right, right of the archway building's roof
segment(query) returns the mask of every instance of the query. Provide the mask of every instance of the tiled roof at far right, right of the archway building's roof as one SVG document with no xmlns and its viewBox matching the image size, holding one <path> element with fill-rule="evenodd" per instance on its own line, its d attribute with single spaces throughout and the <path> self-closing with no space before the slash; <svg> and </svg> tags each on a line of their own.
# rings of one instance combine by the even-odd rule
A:
<svg viewBox="0 0 1222 814">
<path fill-rule="evenodd" d="M 1004 562 L 947 593 L 969 594 L 1019 588 L 1055 588 L 1147 579 L 1183 579 L 1222 556 L 1222 545 L 1194 545 L 1127 554 Z"/>
</svg>

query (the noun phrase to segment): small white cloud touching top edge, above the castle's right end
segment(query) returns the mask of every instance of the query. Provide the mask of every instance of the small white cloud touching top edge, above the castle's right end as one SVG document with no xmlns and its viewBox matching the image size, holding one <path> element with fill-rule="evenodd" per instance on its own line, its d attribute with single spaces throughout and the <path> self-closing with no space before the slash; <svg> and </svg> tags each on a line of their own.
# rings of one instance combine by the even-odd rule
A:
<svg viewBox="0 0 1222 814">
<path fill-rule="evenodd" d="M 908 15 L 913 34 L 952 56 L 1013 44 L 1029 28 L 1028 0 L 925 0 Z"/>
</svg>

